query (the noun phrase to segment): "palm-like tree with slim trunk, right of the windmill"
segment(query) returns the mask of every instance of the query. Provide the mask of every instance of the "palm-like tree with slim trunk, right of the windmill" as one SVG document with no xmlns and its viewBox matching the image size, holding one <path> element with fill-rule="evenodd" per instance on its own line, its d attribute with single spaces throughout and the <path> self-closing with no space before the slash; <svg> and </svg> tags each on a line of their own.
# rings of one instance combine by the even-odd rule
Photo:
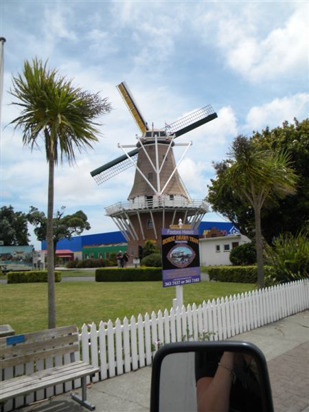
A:
<svg viewBox="0 0 309 412">
<path fill-rule="evenodd" d="M 263 150 L 253 139 L 242 135 L 234 139 L 228 156 L 227 161 L 216 164 L 216 189 L 220 194 L 229 191 L 233 198 L 238 198 L 253 209 L 258 284 L 263 288 L 261 209 L 265 202 L 272 203 L 274 198 L 294 194 L 297 175 L 290 168 L 290 157 L 285 152 Z"/>
</svg>

